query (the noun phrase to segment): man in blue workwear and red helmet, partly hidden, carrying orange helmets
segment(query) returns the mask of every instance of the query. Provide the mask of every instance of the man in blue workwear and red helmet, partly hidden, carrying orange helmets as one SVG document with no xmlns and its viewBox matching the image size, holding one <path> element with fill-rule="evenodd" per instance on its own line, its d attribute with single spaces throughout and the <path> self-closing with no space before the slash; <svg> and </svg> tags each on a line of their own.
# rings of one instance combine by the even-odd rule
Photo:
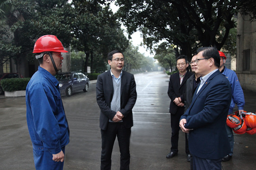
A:
<svg viewBox="0 0 256 170">
<path fill-rule="evenodd" d="M 241 88 L 241 85 L 239 83 L 239 80 L 237 78 L 237 75 L 235 71 L 230 70 L 224 66 L 226 63 L 227 57 L 225 54 L 221 51 L 219 51 L 220 54 L 220 73 L 222 73 L 226 78 L 228 78 L 228 81 L 230 82 L 231 90 L 232 90 L 232 99 L 230 103 L 230 107 L 228 110 L 228 115 L 233 113 L 233 108 L 235 107 L 235 104 L 238 107 L 239 115 L 241 112 L 243 112 L 243 107 L 245 106 L 245 97 L 243 94 L 243 89 Z M 226 155 L 224 158 L 222 158 L 222 161 L 229 161 L 232 158 L 233 155 L 233 148 L 234 148 L 234 135 L 231 127 L 228 127 L 226 125 L 227 133 L 228 133 L 228 140 L 230 142 L 230 153 Z"/>
</svg>

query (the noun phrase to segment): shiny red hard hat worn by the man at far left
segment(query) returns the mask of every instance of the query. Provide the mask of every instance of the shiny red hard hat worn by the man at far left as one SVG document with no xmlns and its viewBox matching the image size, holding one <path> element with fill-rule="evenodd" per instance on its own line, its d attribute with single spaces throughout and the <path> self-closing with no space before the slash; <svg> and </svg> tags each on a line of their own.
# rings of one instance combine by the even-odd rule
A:
<svg viewBox="0 0 256 170">
<path fill-rule="evenodd" d="M 33 53 L 46 51 L 68 52 L 64 50 L 62 43 L 55 35 L 43 35 L 36 41 Z"/>
</svg>

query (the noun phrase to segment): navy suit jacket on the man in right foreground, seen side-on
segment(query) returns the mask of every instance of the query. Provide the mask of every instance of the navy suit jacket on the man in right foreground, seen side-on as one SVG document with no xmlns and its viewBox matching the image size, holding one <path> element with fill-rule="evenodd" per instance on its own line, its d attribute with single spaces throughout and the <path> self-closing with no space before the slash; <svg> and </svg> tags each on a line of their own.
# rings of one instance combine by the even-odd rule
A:
<svg viewBox="0 0 256 170">
<path fill-rule="evenodd" d="M 194 93 L 186 119 L 190 153 L 203 159 L 221 159 L 230 152 L 226 131 L 226 118 L 231 101 L 231 87 L 220 71 L 213 73 L 198 94 Z"/>
</svg>

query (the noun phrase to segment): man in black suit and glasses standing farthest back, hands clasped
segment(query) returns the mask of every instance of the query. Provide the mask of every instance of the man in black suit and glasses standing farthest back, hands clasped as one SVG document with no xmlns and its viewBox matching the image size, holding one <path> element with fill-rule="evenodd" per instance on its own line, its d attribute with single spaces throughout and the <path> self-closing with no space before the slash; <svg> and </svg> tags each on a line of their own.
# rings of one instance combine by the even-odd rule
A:
<svg viewBox="0 0 256 170">
<path fill-rule="evenodd" d="M 181 55 L 177 59 L 177 68 L 179 72 L 170 76 L 168 96 L 171 99 L 169 112 L 171 113 L 171 151 L 166 155 L 166 158 L 175 157 L 178 154 L 179 140 L 179 120 L 184 114 L 184 93 L 186 90 L 186 80 L 193 74 L 187 71 L 188 59 Z M 187 161 L 190 161 L 190 152 L 188 149 L 188 140 L 186 140 Z"/>
</svg>

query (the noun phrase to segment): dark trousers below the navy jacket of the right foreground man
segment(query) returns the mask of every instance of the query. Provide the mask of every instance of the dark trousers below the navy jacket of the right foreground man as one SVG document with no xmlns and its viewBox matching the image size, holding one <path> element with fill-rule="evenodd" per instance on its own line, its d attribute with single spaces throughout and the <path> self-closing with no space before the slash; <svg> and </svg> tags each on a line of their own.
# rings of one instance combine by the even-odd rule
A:
<svg viewBox="0 0 256 170">
<path fill-rule="evenodd" d="M 203 159 L 192 155 L 194 170 L 221 170 L 221 159 Z"/>
</svg>

